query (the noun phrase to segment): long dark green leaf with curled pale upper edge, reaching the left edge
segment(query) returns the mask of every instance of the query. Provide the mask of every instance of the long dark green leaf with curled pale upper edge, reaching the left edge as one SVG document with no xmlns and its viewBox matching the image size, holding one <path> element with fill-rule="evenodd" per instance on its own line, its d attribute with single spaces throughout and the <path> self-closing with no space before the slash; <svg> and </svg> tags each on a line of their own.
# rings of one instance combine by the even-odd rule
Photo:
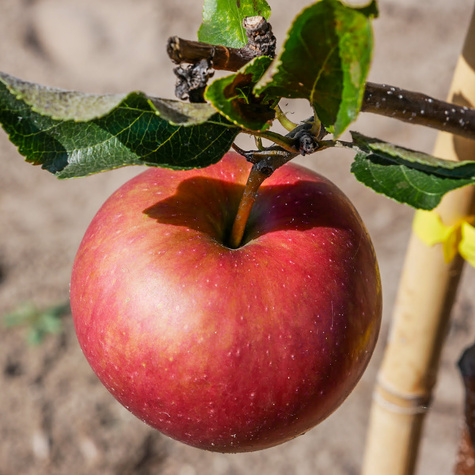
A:
<svg viewBox="0 0 475 475">
<path fill-rule="evenodd" d="M 141 92 L 82 94 L 2 73 L 0 123 L 28 162 L 58 178 L 127 165 L 205 167 L 219 161 L 239 133 L 209 104 Z"/>
</svg>

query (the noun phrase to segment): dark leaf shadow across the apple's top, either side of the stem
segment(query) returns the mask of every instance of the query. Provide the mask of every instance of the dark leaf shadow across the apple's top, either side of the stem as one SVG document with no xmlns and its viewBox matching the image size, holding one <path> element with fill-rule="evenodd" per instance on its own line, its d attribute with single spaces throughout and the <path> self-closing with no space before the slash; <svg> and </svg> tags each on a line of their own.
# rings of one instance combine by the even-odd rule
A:
<svg viewBox="0 0 475 475">
<path fill-rule="evenodd" d="M 173 196 L 143 212 L 158 222 L 201 232 L 230 232 L 243 185 L 207 177 L 184 180 Z M 246 236 L 256 238 L 270 231 L 302 231 L 318 227 L 347 227 L 352 213 L 347 199 L 331 183 L 301 180 L 286 185 L 262 185 L 249 217 Z"/>
</svg>

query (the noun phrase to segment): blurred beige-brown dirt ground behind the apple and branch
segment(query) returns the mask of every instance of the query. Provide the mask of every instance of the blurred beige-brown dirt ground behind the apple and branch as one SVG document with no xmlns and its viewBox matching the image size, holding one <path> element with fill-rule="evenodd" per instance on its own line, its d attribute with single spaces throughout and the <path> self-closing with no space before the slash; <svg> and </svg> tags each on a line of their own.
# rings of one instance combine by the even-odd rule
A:
<svg viewBox="0 0 475 475">
<path fill-rule="evenodd" d="M 473 1 L 379 3 L 370 79 L 445 98 Z M 282 40 L 291 18 L 307 2 L 270 4 Z M 0 0 L 0 70 L 65 89 L 143 90 L 172 97 L 166 38 L 195 38 L 200 15 L 197 0 Z M 436 135 L 370 115 L 353 129 L 427 152 Z M 359 473 L 412 211 L 358 184 L 349 173 L 351 155 L 338 155 L 325 152 L 305 163 L 335 181 L 365 220 L 380 262 L 385 310 L 372 363 L 335 414 L 274 449 L 246 455 L 202 452 L 160 435 L 115 402 L 87 365 L 69 315 L 64 330 L 41 346 L 26 343 L 24 328 L 0 326 L 0 475 Z M 0 315 L 24 302 L 64 302 L 74 254 L 89 221 L 139 169 L 58 181 L 24 163 L 3 132 L 0 166 Z M 445 475 L 453 467 L 462 411 L 455 364 L 475 337 L 474 284 L 475 271 L 467 268 L 425 426 L 420 475 Z"/>
</svg>

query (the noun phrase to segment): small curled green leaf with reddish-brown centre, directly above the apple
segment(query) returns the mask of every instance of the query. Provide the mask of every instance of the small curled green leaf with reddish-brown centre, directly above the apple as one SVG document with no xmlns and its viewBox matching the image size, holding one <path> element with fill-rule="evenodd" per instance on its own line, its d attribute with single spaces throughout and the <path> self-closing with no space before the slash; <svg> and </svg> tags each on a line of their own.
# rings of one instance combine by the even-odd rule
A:
<svg viewBox="0 0 475 475">
<path fill-rule="evenodd" d="M 253 94 L 256 82 L 272 60 L 255 58 L 236 74 L 215 80 L 208 86 L 205 98 L 234 124 L 245 129 L 264 131 L 275 117 L 274 100 L 258 99 Z"/>
</svg>

